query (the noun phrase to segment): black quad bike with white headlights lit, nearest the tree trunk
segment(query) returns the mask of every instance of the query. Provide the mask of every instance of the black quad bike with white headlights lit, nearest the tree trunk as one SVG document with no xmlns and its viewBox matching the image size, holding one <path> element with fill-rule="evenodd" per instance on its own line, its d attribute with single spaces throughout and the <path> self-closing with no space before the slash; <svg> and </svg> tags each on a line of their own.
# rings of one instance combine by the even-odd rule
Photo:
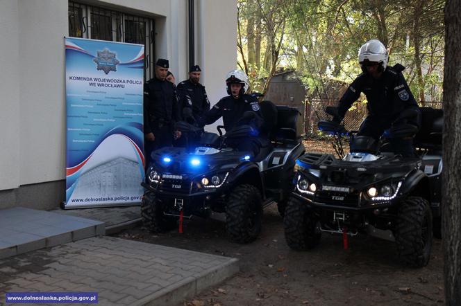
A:
<svg viewBox="0 0 461 306">
<path fill-rule="evenodd" d="M 440 235 L 443 118 L 440 109 L 422 108 L 416 134 L 417 128 L 406 123 L 416 114 L 404 111 L 380 141 L 346 132 L 331 121 L 319 122 L 319 129 L 335 136 L 337 147 L 342 136 L 349 136 L 350 152 L 342 159 L 307 153 L 296 161 L 296 185 L 284 218 L 292 249 L 312 249 L 322 232 L 343 235 L 346 249 L 348 236 L 366 233 L 394 241 L 405 264 L 428 263 L 433 233 Z M 386 152 L 386 139 L 397 136 L 414 136 L 417 157 Z"/>
</svg>

